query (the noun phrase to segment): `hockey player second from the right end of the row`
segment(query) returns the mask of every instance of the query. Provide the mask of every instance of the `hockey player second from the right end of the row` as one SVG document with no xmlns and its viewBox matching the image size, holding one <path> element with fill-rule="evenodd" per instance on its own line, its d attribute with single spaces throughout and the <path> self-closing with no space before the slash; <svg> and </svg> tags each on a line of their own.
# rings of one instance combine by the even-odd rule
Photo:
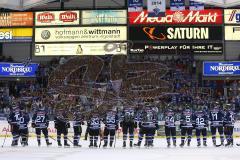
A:
<svg viewBox="0 0 240 160">
<path fill-rule="evenodd" d="M 213 145 L 216 146 L 216 133 L 218 131 L 220 135 L 221 145 L 224 145 L 224 136 L 223 136 L 223 119 L 224 113 L 220 110 L 219 105 L 216 106 L 210 111 L 209 120 L 211 125 L 212 141 Z"/>
</svg>

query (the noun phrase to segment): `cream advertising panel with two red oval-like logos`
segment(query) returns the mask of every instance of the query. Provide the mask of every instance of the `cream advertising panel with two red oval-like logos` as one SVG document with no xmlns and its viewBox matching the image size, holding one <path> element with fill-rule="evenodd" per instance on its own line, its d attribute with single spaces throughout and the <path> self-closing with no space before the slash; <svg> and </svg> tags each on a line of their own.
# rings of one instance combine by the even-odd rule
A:
<svg viewBox="0 0 240 160">
<path fill-rule="evenodd" d="M 79 25 L 79 11 L 45 11 L 35 13 L 36 26 Z"/>
</svg>

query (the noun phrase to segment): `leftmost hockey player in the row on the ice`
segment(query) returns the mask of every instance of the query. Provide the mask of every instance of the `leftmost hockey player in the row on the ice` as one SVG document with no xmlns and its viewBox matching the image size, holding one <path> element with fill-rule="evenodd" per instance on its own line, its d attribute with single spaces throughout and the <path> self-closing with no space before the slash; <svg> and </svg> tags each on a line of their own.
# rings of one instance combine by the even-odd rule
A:
<svg viewBox="0 0 240 160">
<path fill-rule="evenodd" d="M 11 132 L 13 136 L 12 146 L 18 145 L 19 139 L 19 118 L 20 118 L 20 109 L 18 106 L 13 104 L 12 110 L 8 117 L 8 123 L 11 127 Z"/>
</svg>

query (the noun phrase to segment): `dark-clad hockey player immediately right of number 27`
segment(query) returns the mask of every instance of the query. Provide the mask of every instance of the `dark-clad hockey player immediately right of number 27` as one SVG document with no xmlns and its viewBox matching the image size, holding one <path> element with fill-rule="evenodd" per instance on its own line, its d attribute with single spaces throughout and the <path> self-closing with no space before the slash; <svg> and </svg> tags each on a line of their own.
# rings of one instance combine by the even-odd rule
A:
<svg viewBox="0 0 240 160">
<path fill-rule="evenodd" d="M 70 123 L 68 121 L 67 115 L 63 110 L 60 110 L 60 112 L 57 114 L 57 116 L 54 118 L 55 128 L 57 129 L 57 142 L 58 146 L 61 147 L 61 135 L 64 135 L 64 147 L 70 147 L 70 145 L 67 143 L 68 141 L 68 128 L 70 128 Z"/>
</svg>

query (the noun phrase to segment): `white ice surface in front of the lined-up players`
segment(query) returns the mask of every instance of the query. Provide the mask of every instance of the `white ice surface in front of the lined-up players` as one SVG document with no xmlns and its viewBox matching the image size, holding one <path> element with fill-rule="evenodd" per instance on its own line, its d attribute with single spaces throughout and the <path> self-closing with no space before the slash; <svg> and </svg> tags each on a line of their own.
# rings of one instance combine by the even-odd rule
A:
<svg viewBox="0 0 240 160">
<path fill-rule="evenodd" d="M 3 144 L 4 138 L 0 138 Z M 191 147 L 166 147 L 165 139 L 156 139 L 153 148 L 123 149 L 121 140 L 117 140 L 115 148 L 88 148 L 88 141 L 81 140 L 82 148 L 58 148 L 56 142 L 46 147 L 42 139 L 42 146 L 38 147 L 35 138 L 29 139 L 28 147 L 10 147 L 11 138 L 6 139 L 0 148 L 1 160 L 239 160 L 240 147 L 213 147 L 208 139 L 208 147 L 196 147 L 193 139 Z M 235 139 L 240 143 L 240 139 Z M 179 144 L 179 139 L 178 139 Z"/>
</svg>

